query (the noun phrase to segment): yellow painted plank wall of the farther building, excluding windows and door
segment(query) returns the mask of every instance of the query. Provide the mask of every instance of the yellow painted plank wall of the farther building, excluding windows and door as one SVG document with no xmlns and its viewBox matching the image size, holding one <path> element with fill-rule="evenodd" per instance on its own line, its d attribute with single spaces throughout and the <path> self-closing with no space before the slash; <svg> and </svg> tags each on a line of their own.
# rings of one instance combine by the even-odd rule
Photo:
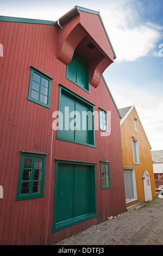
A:
<svg viewBox="0 0 163 256">
<path fill-rule="evenodd" d="M 137 118 L 138 133 L 135 132 L 134 118 Z M 140 164 L 134 164 L 132 136 L 134 136 L 138 141 Z M 139 202 L 145 201 L 142 179 L 145 170 L 148 170 L 148 173 L 151 176 L 152 197 L 156 197 L 151 147 L 149 145 L 145 131 L 143 130 L 143 127 L 140 123 L 139 117 L 135 111 L 135 108 L 133 108 L 128 117 L 121 124 L 121 140 L 123 166 L 135 167 L 137 200 Z"/>
</svg>

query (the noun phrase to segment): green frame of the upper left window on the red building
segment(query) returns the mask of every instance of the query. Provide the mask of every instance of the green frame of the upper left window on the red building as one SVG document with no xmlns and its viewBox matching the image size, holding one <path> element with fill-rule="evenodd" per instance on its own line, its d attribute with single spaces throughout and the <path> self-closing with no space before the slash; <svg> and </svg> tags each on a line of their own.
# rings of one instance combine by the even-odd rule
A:
<svg viewBox="0 0 163 256">
<path fill-rule="evenodd" d="M 32 90 L 34 90 L 34 89 L 32 88 L 33 76 L 34 76 L 34 74 L 39 75 L 39 76 L 41 77 L 41 81 L 42 81 L 42 78 L 45 78 L 46 80 L 48 80 L 48 93 L 47 93 L 47 95 L 42 94 L 42 95 L 47 96 L 47 103 L 44 103 L 44 102 L 42 102 L 42 101 L 40 101 L 40 100 L 36 100 L 36 99 L 34 99 L 34 98 L 32 97 Z M 37 104 L 39 104 L 39 105 L 42 105 L 42 106 L 44 106 L 44 107 L 50 108 L 50 100 L 51 100 L 51 82 L 52 82 L 52 80 L 53 80 L 52 77 L 50 77 L 50 76 L 46 75 L 45 73 L 43 73 L 42 71 L 40 71 L 40 70 L 34 68 L 34 66 L 30 66 L 30 81 L 29 81 L 29 92 L 28 92 L 28 97 L 27 97 L 27 99 L 30 100 L 30 101 L 33 101 L 33 102 L 35 102 L 35 103 L 37 103 Z M 40 89 L 40 87 L 43 86 L 43 84 L 41 84 L 41 81 L 40 81 L 40 83 L 37 83 L 37 82 L 36 82 L 37 84 L 39 84 L 39 92 L 36 91 L 36 90 L 35 90 L 35 91 L 39 93 L 39 97 L 40 97 L 40 95 L 41 95 L 41 89 Z"/>
</svg>

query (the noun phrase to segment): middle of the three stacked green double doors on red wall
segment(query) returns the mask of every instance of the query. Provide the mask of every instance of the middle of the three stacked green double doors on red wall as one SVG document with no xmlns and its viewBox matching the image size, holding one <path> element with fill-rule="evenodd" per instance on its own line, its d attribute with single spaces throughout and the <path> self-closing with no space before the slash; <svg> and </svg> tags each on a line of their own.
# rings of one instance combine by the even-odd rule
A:
<svg viewBox="0 0 163 256">
<path fill-rule="evenodd" d="M 95 147 L 94 105 L 60 85 L 57 138 Z"/>
</svg>

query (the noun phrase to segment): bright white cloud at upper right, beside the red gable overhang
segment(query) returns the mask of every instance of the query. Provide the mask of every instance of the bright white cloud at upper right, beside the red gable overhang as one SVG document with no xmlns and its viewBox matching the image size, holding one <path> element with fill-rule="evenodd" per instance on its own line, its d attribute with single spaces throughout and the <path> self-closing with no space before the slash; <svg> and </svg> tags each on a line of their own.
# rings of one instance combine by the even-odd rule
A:
<svg viewBox="0 0 163 256">
<path fill-rule="evenodd" d="M 147 56 L 154 50 L 156 42 L 160 38 L 158 31 L 147 26 L 134 27 L 133 29 L 115 28 L 113 45 L 117 55 L 117 61 L 134 61 Z"/>
</svg>

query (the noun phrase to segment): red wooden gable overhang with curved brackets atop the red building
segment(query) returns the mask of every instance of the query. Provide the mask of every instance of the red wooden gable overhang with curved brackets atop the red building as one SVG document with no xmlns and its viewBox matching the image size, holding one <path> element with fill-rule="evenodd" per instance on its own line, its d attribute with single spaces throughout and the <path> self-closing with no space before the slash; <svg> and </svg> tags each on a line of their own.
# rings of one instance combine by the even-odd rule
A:
<svg viewBox="0 0 163 256">
<path fill-rule="evenodd" d="M 57 58 L 68 65 L 74 50 L 82 53 L 89 60 L 90 84 L 96 88 L 104 70 L 116 58 L 101 16 L 97 11 L 75 6 L 54 25 L 58 26 Z"/>
</svg>

